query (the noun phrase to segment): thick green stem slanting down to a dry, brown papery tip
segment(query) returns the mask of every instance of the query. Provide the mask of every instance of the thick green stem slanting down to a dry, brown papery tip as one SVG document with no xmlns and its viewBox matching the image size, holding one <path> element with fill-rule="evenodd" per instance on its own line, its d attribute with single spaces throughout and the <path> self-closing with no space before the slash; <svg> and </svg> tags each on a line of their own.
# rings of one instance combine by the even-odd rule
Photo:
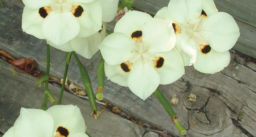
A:
<svg viewBox="0 0 256 137">
<path fill-rule="evenodd" d="M 90 106 L 91 106 L 91 110 L 94 114 L 96 114 L 98 110 L 97 110 L 97 104 L 96 104 L 95 96 L 94 96 L 94 93 L 93 93 L 93 90 L 92 90 L 92 87 L 91 87 L 90 77 L 89 77 L 89 75 L 88 75 L 88 73 L 85 69 L 85 66 L 82 65 L 82 63 L 80 62 L 80 60 L 78 59 L 78 57 L 77 57 L 77 55 L 74 51 L 72 52 L 72 55 L 73 55 L 74 59 L 76 60 L 78 66 L 79 66 L 82 81 L 85 85 L 86 93 L 87 93 L 88 98 L 89 98 L 89 103 L 90 103 Z"/>
</svg>

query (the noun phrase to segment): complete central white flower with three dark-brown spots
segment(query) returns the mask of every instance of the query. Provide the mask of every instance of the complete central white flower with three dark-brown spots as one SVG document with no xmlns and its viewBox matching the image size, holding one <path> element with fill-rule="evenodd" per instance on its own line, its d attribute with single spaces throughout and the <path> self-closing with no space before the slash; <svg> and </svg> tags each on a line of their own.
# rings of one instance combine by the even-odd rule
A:
<svg viewBox="0 0 256 137">
<path fill-rule="evenodd" d="M 128 86 L 145 100 L 159 84 L 170 84 L 184 74 L 182 57 L 174 48 L 170 21 L 129 11 L 116 24 L 114 33 L 99 45 L 105 74 L 112 82 Z"/>
</svg>

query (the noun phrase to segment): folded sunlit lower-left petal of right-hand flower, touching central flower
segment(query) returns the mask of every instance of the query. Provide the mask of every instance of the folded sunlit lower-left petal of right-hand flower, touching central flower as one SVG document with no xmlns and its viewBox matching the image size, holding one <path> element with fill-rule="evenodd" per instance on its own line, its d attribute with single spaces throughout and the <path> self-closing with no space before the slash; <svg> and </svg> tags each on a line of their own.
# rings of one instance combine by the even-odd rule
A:
<svg viewBox="0 0 256 137">
<path fill-rule="evenodd" d="M 182 34 L 176 35 L 176 45 L 175 48 L 181 54 L 183 59 L 184 66 L 191 66 L 196 62 L 197 58 L 197 50 L 195 48 L 195 43 L 193 41 L 189 41 Z"/>
</svg>

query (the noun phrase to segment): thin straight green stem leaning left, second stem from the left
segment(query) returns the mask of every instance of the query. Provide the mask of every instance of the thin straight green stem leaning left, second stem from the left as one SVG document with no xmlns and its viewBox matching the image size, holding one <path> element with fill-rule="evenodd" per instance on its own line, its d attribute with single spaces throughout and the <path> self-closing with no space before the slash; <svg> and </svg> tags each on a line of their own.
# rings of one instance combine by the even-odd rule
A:
<svg viewBox="0 0 256 137">
<path fill-rule="evenodd" d="M 58 105 L 61 104 L 62 101 L 62 97 L 63 97 L 63 92 L 64 92 L 64 88 L 65 88 L 65 83 L 66 83 L 66 78 L 67 78 L 67 74 L 68 74 L 68 65 L 70 62 L 70 52 L 66 53 L 66 66 L 65 66 L 65 71 L 64 71 L 64 76 L 63 76 L 63 81 L 62 81 L 62 86 L 60 88 L 60 93 L 59 93 L 59 99 L 58 99 Z M 69 56 L 69 57 L 68 57 Z"/>
</svg>

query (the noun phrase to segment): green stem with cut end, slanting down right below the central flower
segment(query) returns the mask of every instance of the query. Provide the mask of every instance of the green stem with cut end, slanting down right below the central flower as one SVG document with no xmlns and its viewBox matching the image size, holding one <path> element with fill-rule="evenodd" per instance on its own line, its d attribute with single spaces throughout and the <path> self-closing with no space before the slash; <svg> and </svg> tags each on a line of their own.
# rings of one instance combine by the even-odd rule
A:
<svg viewBox="0 0 256 137">
<path fill-rule="evenodd" d="M 187 133 L 187 130 L 180 124 L 178 121 L 178 118 L 174 112 L 174 110 L 171 108 L 170 103 L 166 100 L 162 92 L 157 88 L 154 92 L 154 95 L 157 97 L 157 99 L 160 101 L 160 103 L 163 105 L 165 110 L 168 112 L 168 114 L 171 116 L 172 121 L 174 121 L 177 129 L 179 130 L 181 135 L 185 135 Z"/>
</svg>

